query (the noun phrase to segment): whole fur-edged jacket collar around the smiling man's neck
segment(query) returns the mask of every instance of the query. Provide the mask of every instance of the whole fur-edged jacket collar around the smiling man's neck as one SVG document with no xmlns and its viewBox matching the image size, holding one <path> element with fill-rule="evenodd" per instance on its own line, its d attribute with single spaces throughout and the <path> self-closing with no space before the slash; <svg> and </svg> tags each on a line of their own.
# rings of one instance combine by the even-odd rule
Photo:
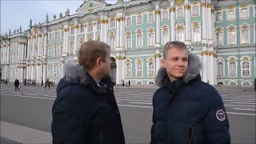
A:
<svg viewBox="0 0 256 144">
<path fill-rule="evenodd" d="M 189 53 L 188 68 L 187 68 L 183 78 L 181 78 L 177 81 L 174 81 L 172 83 L 177 83 L 178 85 L 185 85 L 192 81 L 201 80 L 201 77 L 200 77 L 201 67 L 202 67 L 202 63 L 201 63 L 201 60 L 198 58 L 198 56 L 193 53 Z M 170 83 L 170 80 L 168 78 L 165 68 L 161 67 L 158 70 L 158 74 L 155 78 L 155 83 L 157 86 L 168 85 L 168 83 Z M 176 84 L 174 84 L 174 85 L 176 85 Z"/>
</svg>

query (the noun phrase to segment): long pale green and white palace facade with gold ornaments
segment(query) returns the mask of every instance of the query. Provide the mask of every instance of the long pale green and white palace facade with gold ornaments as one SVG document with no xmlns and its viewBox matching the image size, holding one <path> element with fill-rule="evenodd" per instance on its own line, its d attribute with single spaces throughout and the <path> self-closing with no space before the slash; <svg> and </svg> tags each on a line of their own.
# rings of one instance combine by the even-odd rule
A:
<svg viewBox="0 0 256 144">
<path fill-rule="evenodd" d="M 2 79 L 52 82 L 66 59 L 77 60 L 82 42 L 111 47 L 111 77 L 121 84 L 154 84 L 166 42 L 185 42 L 202 59 L 202 80 L 212 85 L 254 85 L 254 0 L 88 0 L 76 14 L 10 31 L 1 37 Z"/>
</svg>

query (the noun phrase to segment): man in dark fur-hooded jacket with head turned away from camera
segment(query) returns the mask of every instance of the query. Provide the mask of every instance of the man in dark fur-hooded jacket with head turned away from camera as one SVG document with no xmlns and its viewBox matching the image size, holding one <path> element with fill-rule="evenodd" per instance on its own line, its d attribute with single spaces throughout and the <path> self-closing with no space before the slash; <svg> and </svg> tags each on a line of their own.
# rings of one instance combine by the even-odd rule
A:
<svg viewBox="0 0 256 144">
<path fill-rule="evenodd" d="M 52 109 L 54 144 L 124 144 L 121 116 L 110 74 L 110 46 L 88 41 L 78 52 L 78 65 L 63 66 Z"/>
</svg>

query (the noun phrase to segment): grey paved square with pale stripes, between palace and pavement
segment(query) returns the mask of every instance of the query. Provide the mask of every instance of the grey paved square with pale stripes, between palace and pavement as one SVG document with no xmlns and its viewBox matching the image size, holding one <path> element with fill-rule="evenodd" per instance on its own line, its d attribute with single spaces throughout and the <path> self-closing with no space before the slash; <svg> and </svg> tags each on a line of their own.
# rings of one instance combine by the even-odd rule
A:
<svg viewBox="0 0 256 144">
<path fill-rule="evenodd" d="M 217 88 L 222 95 L 230 120 L 232 143 L 255 143 L 255 92 L 253 88 Z M 115 87 L 115 96 L 122 114 L 127 143 L 150 142 L 152 97 L 155 87 Z M 50 132 L 51 108 L 56 86 L 1 85 L 1 118 L 21 126 Z"/>
</svg>

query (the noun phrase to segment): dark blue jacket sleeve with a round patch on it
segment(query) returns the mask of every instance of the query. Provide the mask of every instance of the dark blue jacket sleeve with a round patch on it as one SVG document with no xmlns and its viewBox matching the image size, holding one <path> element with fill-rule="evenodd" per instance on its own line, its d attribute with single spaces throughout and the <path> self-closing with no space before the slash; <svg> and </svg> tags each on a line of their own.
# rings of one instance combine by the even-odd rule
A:
<svg viewBox="0 0 256 144">
<path fill-rule="evenodd" d="M 222 97 L 217 90 L 213 90 L 205 102 L 208 111 L 203 120 L 208 144 L 230 144 L 230 124 Z"/>
</svg>

